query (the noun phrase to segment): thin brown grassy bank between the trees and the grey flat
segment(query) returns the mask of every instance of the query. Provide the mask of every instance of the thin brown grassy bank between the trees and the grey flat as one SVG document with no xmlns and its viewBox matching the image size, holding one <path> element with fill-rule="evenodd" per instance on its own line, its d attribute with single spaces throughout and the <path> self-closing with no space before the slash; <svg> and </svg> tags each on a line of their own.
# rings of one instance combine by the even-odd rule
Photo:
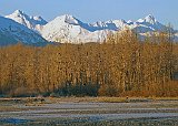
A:
<svg viewBox="0 0 178 126">
<path fill-rule="evenodd" d="M 178 97 L 2 97 L 2 102 L 99 102 L 99 103 L 137 103 L 137 102 L 156 102 L 156 101 L 178 101 Z"/>
</svg>

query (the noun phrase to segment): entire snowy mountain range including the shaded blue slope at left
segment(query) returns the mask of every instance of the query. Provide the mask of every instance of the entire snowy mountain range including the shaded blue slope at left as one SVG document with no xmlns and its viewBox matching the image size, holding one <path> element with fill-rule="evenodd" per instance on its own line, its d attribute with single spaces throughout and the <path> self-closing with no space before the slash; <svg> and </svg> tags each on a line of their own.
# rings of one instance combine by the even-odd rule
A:
<svg viewBox="0 0 178 126">
<path fill-rule="evenodd" d="M 102 42 L 109 33 L 125 29 L 136 30 L 140 35 L 146 35 L 154 31 L 164 31 L 167 27 L 151 14 L 137 21 L 109 20 L 95 23 L 86 23 L 65 14 L 47 22 L 41 17 L 31 17 L 16 10 L 9 15 L 0 17 L 0 45 L 17 42 Z"/>
</svg>

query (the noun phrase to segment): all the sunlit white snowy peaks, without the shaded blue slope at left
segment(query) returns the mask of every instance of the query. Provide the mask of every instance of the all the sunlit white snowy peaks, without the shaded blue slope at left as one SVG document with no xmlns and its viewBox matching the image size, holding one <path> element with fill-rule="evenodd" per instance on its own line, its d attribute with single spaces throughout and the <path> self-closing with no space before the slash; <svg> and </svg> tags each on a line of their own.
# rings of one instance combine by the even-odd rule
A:
<svg viewBox="0 0 178 126">
<path fill-rule="evenodd" d="M 26 28 L 36 31 L 50 42 L 61 43 L 102 42 L 106 40 L 108 34 L 126 29 L 135 30 L 141 38 L 144 38 L 146 34 L 150 34 L 154 31 L 165 31 L 167 29 L 166 25 L 158 22 L 151 14 L 137 21 L 109 20 L 97 21 L 93 23 L 82 22 L 70 14 L 60 15 L 55 20 L 47 22 L 41 17 L 29 17 L 20 10 L 14 11 L 12 14 L 6 15 L 6 18 L 12 19 Z M 29 38 L 31 39 L 30 35 Z"/>
</svg>

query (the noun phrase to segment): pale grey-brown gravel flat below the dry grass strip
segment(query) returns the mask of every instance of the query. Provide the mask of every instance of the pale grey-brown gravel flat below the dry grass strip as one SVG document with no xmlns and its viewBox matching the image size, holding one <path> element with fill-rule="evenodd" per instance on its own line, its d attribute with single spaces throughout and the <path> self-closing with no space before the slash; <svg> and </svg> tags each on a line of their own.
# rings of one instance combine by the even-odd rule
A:
<svg viewBox="0 0 178 126">
<path fill-rule="evenodd" d="M 88 120 L 117 120 L 139 118 L 178 119 L 177 101 L 149 103 L 55 103 L 42 106 L 14 104 L 19 111 L 0 112 L 0 118 L 41 120 L 52 118 L 88 118 Z"/>
</svg>

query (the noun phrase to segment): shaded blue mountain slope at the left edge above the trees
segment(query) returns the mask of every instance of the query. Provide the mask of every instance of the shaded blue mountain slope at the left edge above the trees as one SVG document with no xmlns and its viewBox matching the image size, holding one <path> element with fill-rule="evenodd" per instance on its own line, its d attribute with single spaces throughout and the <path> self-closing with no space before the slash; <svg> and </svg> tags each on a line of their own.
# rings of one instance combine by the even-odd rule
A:
<svg viewBox="0 0 178 126">
<path fill-rule="evenodd" d="M 41 35 L 8 18 L 0 17 L 0 45 L 23 42 L 27 44 L 47 42 Z"/>
</svg>

